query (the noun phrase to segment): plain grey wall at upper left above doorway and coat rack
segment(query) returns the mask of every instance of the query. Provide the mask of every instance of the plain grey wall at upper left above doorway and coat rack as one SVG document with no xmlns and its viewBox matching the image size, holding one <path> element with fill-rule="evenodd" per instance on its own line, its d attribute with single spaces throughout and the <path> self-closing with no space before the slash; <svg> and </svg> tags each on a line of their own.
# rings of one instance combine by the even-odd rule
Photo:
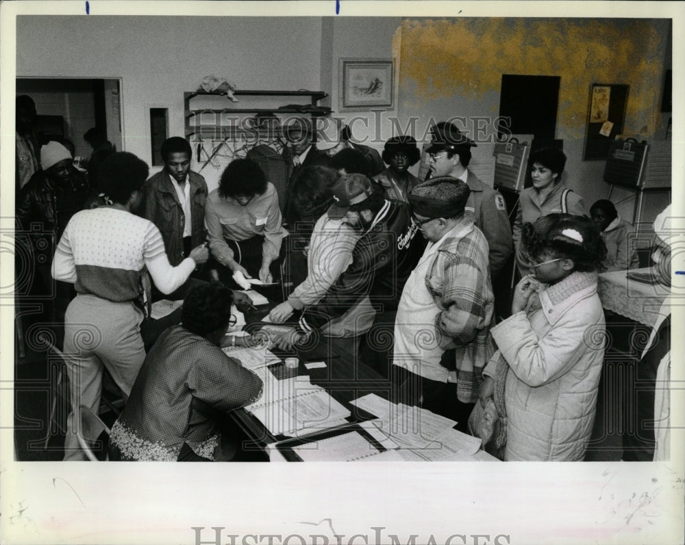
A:
<svg viewBox="0 0 685 545">
<path fill-rule="evenodd" d="M 206 75 L 321 87 L 321 18 L 19 16 L 16 51 L 18 77 L 121 77 L 123 149 L 148 163 L 149 108 L 169 108 L 169 135 L 183 135 L 183 93 Z"/>
</svg>

